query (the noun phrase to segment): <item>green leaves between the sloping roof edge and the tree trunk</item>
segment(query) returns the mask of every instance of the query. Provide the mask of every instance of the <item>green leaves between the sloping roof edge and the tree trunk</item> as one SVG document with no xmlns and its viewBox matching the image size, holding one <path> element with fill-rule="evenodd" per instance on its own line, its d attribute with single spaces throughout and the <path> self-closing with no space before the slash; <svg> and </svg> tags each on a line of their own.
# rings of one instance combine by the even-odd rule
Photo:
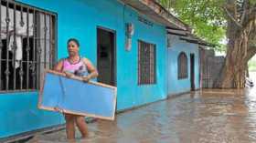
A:
<svg viewBox="0 0 256 143">
<path fill-rule="evenodd" d="M 254 1 L 254 0 L 253 0 Z M 226 18 L 223 11 L 225 0 L 158 0 L 172 14 L 193 28 L 193 34 L 217 45 L 225 51 Z"/>
</svg>

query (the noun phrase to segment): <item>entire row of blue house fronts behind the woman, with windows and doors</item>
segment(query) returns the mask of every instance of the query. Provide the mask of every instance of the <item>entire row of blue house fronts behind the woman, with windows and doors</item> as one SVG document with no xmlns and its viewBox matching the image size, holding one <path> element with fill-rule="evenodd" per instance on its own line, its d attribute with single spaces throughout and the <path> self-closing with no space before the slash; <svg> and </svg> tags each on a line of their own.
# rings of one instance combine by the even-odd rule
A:
<svg viewBox="0 0 256 143">
<path fill-rule="evenodd" d="M 166 26 L 186 26 L 176 18 L 167 18 L 172 15 L 157 14 L 158 9 L 152 5 L 162 7 L 155 1 L 1 0 L 1 5 L 0 19 L 5 26 L 0 26 L 0 31 L 6 35 L 0 37 L 3 46 L 7 49 L 8 43 L 15 41 L 16 49 L 20 44 L 23 54 L 21 58 L 17 50 L 11 54 L 11 50 L 2 51 L 7 56 L 0 54 L 0 66 L 5 65 L 0 68 L 4 77 L 0 86 L 0 140 L 64 123 L 61 114 L 37 109 L 37 98 L 44 69 L 68 56 L 70 37 L 80 40 L 80 55 L 97 66 L 97 80 L 117 87 L 117 111 L 199 88 L 198 45 L 180 40 L 179 36 L 168 36 Z M 15 34 L 11 35 L 11 30 Z M 178 66 L 182 52 L 187 56 L 187 65 L 185 62 Z M 194 87 L 190 56 L 194 60 Z M 9 64 L 12 61 L 13 65 Z M 5 74 L 3 68 L 11 74 Z M 179 78 L 178 72 L 183 71 L 187 75 Z"/>
</svg>

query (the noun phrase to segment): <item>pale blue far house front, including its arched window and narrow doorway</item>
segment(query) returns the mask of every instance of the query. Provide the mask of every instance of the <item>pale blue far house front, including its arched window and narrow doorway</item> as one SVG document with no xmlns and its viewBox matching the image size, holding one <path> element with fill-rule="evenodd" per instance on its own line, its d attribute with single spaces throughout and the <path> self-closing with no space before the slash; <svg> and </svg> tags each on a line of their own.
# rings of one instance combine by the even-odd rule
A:
<svg viewBox="0 0 256 143">
<path fill-rule="evenodd" d="M 167 54 L 167 79 L 168 95 L 176 95 L 188 92 L 191 89 L 200 88 L 200 69 L 199 69 L 199 49 L 198 44 L 188 43 L 180 39 L 180 36 L 169 35 L 171 46 L 168 47 Z M 179 56 L 184 54 L 187 61 L 186 69 L 179 71 L 182 61 Z M 181 59 L 182 60 L 182 59 Z M 181 67 L 182 68 L 182 67 Z M 187 73 L 185 77 L 179 77 L 180 73 Z"/>
</svg>

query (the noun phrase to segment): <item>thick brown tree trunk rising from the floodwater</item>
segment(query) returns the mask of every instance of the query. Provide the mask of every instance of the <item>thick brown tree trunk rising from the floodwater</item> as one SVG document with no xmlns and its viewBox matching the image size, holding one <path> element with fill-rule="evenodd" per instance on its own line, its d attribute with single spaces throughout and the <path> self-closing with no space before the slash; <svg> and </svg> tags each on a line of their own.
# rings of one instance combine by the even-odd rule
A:
<svg viewBox="0 0 256 143">
<path fill-rule="evenodd" d="M 237 9 L 237 2 L 227 0 L 227 38 L 229 39 L 227 56 L 219 78 L 214 86 L 220 88 L 243 88 L 245 87 L 247 63 L 256 53 L 255 40 L 256 21 L 255 11 L 248 10 L 249 1 L 244 1 L 243 13 Z M 238 15 L 240 14 L 240 16 Z M 240 18 L 240 20 L 238 20 Z"/>
</svg>

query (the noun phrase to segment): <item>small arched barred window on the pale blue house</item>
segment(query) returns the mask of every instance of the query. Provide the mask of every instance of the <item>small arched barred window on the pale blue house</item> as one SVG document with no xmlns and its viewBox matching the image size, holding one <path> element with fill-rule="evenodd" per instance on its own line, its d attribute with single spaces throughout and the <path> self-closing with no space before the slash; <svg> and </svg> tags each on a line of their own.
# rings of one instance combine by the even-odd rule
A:
<svg viewBox="0 0 256 143">
<path fill-rule="evenodd" d="M 177 78 L 187 78 L 187 56 L 184 52 L 177 57 Z"/>
</svg>

